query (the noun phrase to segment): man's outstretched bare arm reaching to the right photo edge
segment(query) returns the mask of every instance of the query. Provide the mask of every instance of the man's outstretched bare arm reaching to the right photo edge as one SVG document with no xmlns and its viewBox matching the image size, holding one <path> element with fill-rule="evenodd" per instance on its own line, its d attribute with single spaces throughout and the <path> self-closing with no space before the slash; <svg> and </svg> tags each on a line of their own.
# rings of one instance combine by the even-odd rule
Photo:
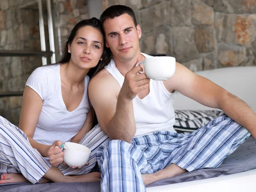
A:
<svg viewBox="0 0 256 192">
<path fill-rule="evenodd" d="M 164 82 L 167 90 L 181 94 L 210 108 L 224 111 L 231 119 L 243 125 L 256 139 L 256 114 L 244 101 L 213 83 L 176 64 L 175 75 Z"/>
</svg>

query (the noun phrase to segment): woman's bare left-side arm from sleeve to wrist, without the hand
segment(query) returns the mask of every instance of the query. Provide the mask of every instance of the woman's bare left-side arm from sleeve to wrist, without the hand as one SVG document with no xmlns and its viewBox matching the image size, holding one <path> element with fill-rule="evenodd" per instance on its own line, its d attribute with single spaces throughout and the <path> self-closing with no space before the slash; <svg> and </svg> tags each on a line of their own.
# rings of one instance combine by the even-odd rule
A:
<svg viewBox="0 0 256 192">
<path fill-rule="evenodd" d="M 26 134 L 32 147 L 37 149 L 43 157 L 48 157 L 47 151 L 51 145 L 44 145 L 33 140 L 42 106 L 43 101 L 38 93 L 26 86 L 23 93 L 19 128 Z"/>
</svg>

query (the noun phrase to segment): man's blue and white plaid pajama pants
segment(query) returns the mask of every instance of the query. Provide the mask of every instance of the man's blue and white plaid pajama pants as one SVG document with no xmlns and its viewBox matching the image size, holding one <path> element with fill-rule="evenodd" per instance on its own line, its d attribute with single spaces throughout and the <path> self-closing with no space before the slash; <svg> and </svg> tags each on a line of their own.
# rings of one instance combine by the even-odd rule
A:
<svg viewBox="0 0 256 192">
<path fill-rule="evenodd" d="M 131 143 L 111 140 L 97 151 L 102 192 L 145 192 L 141 173 L 151 174 L 171 163 L 191 172 L 216 168 L 250 133 L 225 114 L 191 134 L 169 131 L 134 137 Z"/>
</svg>

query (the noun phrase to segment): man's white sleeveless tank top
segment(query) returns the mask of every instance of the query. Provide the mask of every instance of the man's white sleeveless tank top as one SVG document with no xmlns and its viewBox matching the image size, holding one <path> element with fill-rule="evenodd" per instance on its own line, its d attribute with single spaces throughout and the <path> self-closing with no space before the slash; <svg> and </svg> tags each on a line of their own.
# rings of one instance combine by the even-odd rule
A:
<svg viewBox="0 0 256 192">
<path fill-rule="evenodd" d="M 142 53 L 145 58 L 152 57 Z M 124 82 L 124 76 L 116 68 L 116 64 L 111 59 L 105 67 L 106 70 L 118 81 L 120 87 Z M 150 79 L 150 92 L 145 98 L 136 96 L 133 99 L 134 118 L 136 122 L 136 133 L 134 137 L 152 134 L 155 131 L 172 131 L 175 124 L 175 113 L 173 101 L 176 93 L 169 93 L 163 85 L 163 81 Z"/>
</svg>

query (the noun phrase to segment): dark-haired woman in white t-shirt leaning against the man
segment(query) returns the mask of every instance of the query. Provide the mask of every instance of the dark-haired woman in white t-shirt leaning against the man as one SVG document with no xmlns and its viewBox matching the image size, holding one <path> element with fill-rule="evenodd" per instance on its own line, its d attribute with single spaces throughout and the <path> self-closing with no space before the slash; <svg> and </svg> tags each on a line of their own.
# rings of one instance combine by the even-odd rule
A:
<svg viewBox="0 0 256 192">
<path fill-rule="evenodd" d="M 0 184 L 43 182 L 42 177 L 53 182 L 100 180 L 99 172 L 89 172 L 96 164 L 96 149 L 108 137 L 99 126 L 91 130 L 93 110 L 87 87 L 89 76 L 109 61 L 99 20 L 91 18 L 73 28 L 58 64 L 38 67 L 29 76 L 19 128 L 0 116 Z M 61 144 L 67 141 L 91 149 L 89 166 L 70 170 L 61 164 Z"/>
</svg>

